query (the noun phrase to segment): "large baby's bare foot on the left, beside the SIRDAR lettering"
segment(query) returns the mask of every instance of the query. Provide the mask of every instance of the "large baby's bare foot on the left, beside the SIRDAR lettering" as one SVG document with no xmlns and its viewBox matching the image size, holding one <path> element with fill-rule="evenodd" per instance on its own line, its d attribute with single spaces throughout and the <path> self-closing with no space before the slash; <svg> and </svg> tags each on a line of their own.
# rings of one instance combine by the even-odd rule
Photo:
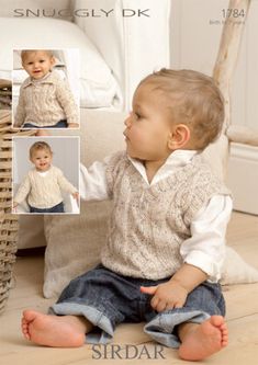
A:
<svg viewBox="0 0 258 365">
<path fill-rule="evenodd" d="M 48 316 L 25 310 L 22 318 L 24 337 L 52 347 L 79 347 L 85 343 L 87 326 L 75 316 Z"/>
</svg>

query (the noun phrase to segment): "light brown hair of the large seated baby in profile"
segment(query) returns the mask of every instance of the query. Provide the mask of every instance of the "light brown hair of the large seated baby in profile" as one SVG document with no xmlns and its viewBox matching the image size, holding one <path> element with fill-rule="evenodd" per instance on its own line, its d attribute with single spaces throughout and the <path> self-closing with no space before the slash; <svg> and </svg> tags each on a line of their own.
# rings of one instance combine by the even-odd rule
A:
<svg viewBox="0 0 258 365">
<path fill-rule="evenodd" d="M 147 76 L 141 81 L 157 84 L 164 92 L 171 111 L 171 118 L 177 124 L 186 124 L 197 144 L 197 149 L 204 149 L 221 134 L 224 122 L 224 99 L 215 81 L 193 70 L 161 70 Z"/>
</svg>

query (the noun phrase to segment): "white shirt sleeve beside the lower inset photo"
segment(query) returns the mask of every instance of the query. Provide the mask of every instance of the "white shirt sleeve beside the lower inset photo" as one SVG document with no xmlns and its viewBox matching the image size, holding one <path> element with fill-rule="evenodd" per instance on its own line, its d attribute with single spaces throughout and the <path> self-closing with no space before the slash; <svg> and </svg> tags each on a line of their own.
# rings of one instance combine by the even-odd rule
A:
<svg viewBox="0 0 258 365">
<path fill-rule="evenodd" d="M 80 164 L 79 184 L 80 196 L 85 201 L 104 201 L 109 198 L 105 170 L 110 157 L 103 162 L 96 161 L 87 169 Z"/>
</svg>

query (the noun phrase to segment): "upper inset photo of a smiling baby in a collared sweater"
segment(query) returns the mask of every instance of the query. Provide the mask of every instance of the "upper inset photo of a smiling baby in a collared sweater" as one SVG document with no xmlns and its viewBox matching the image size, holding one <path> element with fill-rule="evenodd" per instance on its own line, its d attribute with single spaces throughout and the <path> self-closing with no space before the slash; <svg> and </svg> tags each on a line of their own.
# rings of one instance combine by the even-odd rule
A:
<svg viewBox="0 0 258 365">
<path fill-rule="evenodd" d="M 79 49 L 13 50 L 13 128 L 79 128 Z"/>
</svg>

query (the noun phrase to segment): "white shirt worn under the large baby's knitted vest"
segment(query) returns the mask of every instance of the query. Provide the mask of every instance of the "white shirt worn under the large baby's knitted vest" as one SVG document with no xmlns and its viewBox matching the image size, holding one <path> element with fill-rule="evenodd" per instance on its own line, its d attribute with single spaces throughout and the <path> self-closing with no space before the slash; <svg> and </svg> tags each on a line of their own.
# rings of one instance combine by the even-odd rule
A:
<svg viewBox="0 0 258 365">
<path fill-rule="evenodd" d="M 171 173 L 191 161 L 197 151 L 176 150 L 148 182 L 144 164 L 130 158 L 135 169 L 149 185 L 166 179 Z M 88 170 L 80 167 L 80 194 L 86 201 L 108 199 L 105 169 L 110 157 L 103 162 L 94 162 Z M 183 262 L 201 269 L 209 275 L 209 281 L 217 282 L 225 256 L 225 235 L 233 203 L 229 195 L 215 195 L 203 206 L 191 223 L 191 237 L 182 242 L 180 253 Z"/>
</svg>

